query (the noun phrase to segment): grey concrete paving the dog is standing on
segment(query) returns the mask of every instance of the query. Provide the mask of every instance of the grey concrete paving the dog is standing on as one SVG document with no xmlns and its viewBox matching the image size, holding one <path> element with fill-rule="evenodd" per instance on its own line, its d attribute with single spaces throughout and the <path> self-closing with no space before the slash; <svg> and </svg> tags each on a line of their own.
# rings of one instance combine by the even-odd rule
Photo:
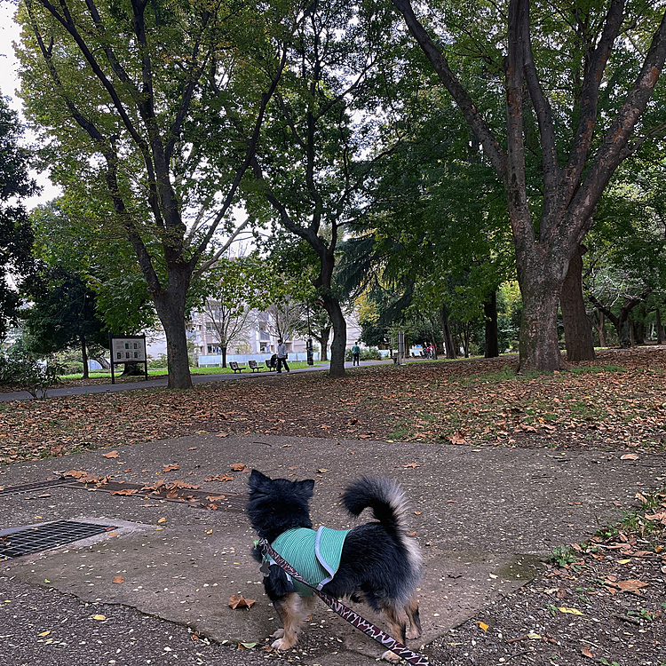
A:
<svg viewBox="0 0 666 666">
<path fill-rule="evenodd" d="M 217 510 L 205 511 L 147 492 L 114 496 L 101 490 L 36 488 L 4 496 L 0 529 L 57 519 L 91 520 L 115 528 L 96 543 L 0 564 L 0 632 L 5 644 L 20 649 L 26 663 L 47 663 L 44 655 L 52 654 L 52 648 L 44 644 L 51 639 L 75 652 L 61 651 L 61 662 L 48 663 L 76 662 L 76 650 L 95 646 L 99 636 L 107 650 L 104 659 L 94 662 L 100 664 L 147 659 L 160 664 L 261 662 L 264 654 L 257 650 L 229 653 L 220 646 L 199 650 L 192 661 L 185 661 L 190 649 L 185 639 L 178 643 L 180 658 L 169 661 L 170 653 L 163 652 L 166 638 L 152 647 L 143 645 L 139 660 L 131 656 L 139 644 L 127 642 L 131 627 L 146 616 L 182 625 L 170 625 L 167 631 L 176 637 L 167 644 L 170 650 L 179 637 L 187 638 L 187 630 L 218 641 L 263 646 L 277 629 L 258 564 L 250 556 L 256 536 L 242 511 L 248 474 L 233 471 L 232 464 L 243 463 L 248 470 L 258 468 L 271 476 L 315 479 L 313 522 L 336 528 L 353 525 L 339 506 L 339 493 L 350 480 L 374 473 L 400 481 L 412 503 L 411 522 L 424 551 L 420 600 L 425 644 L 524 583 L 538 559 L 554 547 L 582 541 L 617 519 L 622 508 L 634 503 L 638 490 L 659 485 L 666 464 L 663 454 L 641 454 L 634 461 L 622 460 L 621 453 L 599 451 L 563 454 L 550 449 L 265 435 L 201 434 L 124 446 L 106 457 L 109 453 L 101 449 L 12 464 L 0 468 L 0 486 L 46 480 L 75 468 L 135 484 L 179 480 L 225 498 L 213 500 Z M 233 480 L 214 480 L 224 475 Z M 257 602 L 249 610 L 233 610 L 227 603 L 233 594 Z M 11 610 L 23 604 L 21 599 L 48 610 L 28 627 L 22 615 Z M 101 615 L 95 610 L 99 605 Z M 68 622 L 76 608 L 84 619 Z M 365 609 L 361 612 L 367 614 Z M 117 622 L 125 629 L 105 633 L 104 622 Z M 289 654 L 302 664 L 370 666 L 381 652 L 322 604 L 305 634 L 299 648 L 305 652 Z M 0 663 L 8 662 L 0 657 Z"/>
</svg>

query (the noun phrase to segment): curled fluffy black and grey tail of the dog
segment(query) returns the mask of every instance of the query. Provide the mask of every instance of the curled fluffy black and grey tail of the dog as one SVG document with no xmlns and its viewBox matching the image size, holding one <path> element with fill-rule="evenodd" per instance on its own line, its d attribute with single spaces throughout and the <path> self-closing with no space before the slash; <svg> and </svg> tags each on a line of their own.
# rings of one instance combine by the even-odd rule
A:
<svg viewBox="0 0 666 666">
<path fill-rule="evenodd" d="M 370 507 L 375 518 L 389 532 L 399 537 L 407 535 L 407 500 L 395 481 L 361 477 L 345 490 L 342 501 L 347 511 L 354 516 Z"/>
</svg>

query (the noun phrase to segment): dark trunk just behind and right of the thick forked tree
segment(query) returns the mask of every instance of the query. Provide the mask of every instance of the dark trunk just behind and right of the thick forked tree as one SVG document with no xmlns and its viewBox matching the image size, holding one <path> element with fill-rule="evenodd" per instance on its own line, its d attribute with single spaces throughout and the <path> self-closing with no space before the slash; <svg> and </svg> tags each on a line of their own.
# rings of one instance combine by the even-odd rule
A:
<svg viewBox="0 0 666 666">
<path fill-rule="evenodd" d="M 569 261 L 567 277 L 559 297 L 567 361 L 593 361 L 596 358 L 590 318 L 585 312 L 583 301 L 583 255 L 586 251 L 584 245 L 578 245 Z"/>
</svg>

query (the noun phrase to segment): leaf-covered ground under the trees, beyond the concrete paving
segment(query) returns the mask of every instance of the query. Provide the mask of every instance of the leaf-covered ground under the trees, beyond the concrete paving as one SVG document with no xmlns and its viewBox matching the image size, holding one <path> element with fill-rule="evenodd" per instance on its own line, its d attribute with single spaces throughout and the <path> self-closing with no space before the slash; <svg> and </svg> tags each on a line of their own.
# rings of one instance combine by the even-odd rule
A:
<svg viewBox="0 0 666 666">
<path fill-rule="evenodd" d="M 666 349 L 535 377 L 515 357 L 244 377 L 0 403 L 0 464 L 195 432 L 551 448 L 666 448 Z"/>
</svg>

